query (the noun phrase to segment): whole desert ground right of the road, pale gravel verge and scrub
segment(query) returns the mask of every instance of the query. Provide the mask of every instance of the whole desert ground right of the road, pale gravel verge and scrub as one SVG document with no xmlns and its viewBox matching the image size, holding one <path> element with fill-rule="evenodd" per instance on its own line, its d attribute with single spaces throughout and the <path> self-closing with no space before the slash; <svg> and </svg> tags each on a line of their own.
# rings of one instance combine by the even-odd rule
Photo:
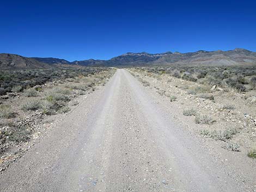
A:
<svg viewBox="0 0 256 192">
<path fill-rule="evenodd" d="M 150 66 L 130 71 L 175 101 L 175 112 L 196 133 L 255 158 L 256 66 Z"/>
</svg>

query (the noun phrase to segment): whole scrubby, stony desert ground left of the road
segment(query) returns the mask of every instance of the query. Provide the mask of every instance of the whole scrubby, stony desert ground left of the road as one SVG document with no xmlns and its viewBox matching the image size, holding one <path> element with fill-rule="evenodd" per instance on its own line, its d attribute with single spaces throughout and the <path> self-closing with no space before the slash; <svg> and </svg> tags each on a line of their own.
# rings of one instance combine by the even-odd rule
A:
<svg viewBox="0 0 256 192">
<path fill-rule="evenodd" d="M 46 116 L 68 113 L 79 103 L 76 97 L 104 85 L 114 72 L 103 67 L 1 71 L 0 157 L 38 134 Z"/>
</svg>

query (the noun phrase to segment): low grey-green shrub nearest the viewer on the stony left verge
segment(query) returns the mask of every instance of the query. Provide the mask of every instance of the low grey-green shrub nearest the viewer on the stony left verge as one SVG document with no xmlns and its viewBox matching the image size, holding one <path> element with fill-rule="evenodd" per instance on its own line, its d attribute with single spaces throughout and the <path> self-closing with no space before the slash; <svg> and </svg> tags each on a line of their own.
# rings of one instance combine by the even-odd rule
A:
<svg viewBox="0 0 256 192">
<path fill-rule="evenodd" d="M 31 131 L 29 131 L 29 129 L 25 126 L 21 126 L 11 131 L 8 135 L 8 140 L 15 141 L 16 143 L 20 143 L 21 141 L 25 142 L 29 140 L 30 134 Z"/>
</svg>

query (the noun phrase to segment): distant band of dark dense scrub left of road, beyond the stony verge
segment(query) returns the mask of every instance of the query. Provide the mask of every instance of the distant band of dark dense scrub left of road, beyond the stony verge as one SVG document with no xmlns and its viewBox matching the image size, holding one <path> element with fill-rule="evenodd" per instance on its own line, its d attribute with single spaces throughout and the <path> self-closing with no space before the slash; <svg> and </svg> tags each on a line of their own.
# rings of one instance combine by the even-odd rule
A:
<svg viewBox="0 0 256 192">
<path fill-rule="evenodd" d="M 105 70 L 106 68 L 103 67 L 1 70 L 0 95 L 8 94 L 8 92 L 21 92 L 25 90 L 28 97 L 34 97 L 36 96 L 36 92 L 34 91 L 34 89 L 30 88 L 34 88 L 36 85 L 44 85 L 45 83 L 54 82 L 57 80 L 86 77 Z M 35 88 L 35 90 L 40 91 L 39 88 Z"/>
</svg>

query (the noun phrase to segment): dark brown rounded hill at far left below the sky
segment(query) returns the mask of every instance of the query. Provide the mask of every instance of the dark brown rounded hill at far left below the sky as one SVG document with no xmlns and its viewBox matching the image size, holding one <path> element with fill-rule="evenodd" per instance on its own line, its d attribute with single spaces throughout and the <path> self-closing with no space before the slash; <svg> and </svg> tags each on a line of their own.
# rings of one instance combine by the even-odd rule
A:
<svg viewBox="0 0 256 192">
<path fill-rule="evenodd" d="M 1 53 L 0 69 L 46 69 L 51 67 L 33 58 L 26 58 L 16 54 Z"/>
</svg>

